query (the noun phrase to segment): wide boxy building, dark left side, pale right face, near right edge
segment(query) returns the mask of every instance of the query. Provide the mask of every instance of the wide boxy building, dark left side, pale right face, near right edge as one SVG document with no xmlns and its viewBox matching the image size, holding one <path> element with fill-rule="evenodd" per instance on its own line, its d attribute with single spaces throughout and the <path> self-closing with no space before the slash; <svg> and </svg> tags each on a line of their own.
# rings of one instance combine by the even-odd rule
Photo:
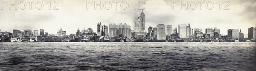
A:
<svg viewBox="0 0 256 71">
<path fill-rule="evenodd" d="M 229 29 L 229 30 L 227 30 L 227 37 L 228 37 L 228 39 L 239 38 L 239 29 Z"/>
</svg>

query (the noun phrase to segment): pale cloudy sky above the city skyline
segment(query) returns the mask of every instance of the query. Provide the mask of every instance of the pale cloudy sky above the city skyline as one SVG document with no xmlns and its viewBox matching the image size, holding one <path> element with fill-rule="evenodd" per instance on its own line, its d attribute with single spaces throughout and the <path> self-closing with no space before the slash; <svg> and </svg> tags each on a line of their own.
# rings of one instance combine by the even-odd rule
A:
<svg viewBox="0 0 256 71">
<path fill-rule="evenodd" d="M 98 22 L 102 25 L 126 23 L 133 30 L 140 9 L 144 9 L 146 31 L 149 26 L 156 27 L 157 24 L 172 25 L 174 29 L 189 23 L 191 28 L 201 28 L 204 33 L 205 28 L 217 27 L 221 34 L 227 35 L 227 29 L 241 29 L 242 33 L 248 34 L 249 27 L 256 27 L 256 0 L 209 0 L 202 4 L 197 0 L 188 0 L 187 4 L 186 0 L 102 0 L 102 4 L 100 0 L 50 0 L 51 3 L 41 0 L 42 8 L 40 2 L 34 1 L 29 6 L 29 2 L 18 0 L 17 9 L 15 6 L 9 9 L 10 2 L 14 4 L 15 0 L 1 0 L 0 29 L 11 33 L 14 29 L 44 29 L 44 32 L 56 34 L 62 28 L 70 34 L 76 33 L 78 28 L 89 27 L 96 32 Z M 115 2 L 118 2 L 116 9 Z M 102 5 L 102 9 L 100 6 L 95 9 L 95 3 Z M 180 6 L 180 3 L 187 6 Z M 54 6 L 58 9 L 53 10 Z"/>
</svg>

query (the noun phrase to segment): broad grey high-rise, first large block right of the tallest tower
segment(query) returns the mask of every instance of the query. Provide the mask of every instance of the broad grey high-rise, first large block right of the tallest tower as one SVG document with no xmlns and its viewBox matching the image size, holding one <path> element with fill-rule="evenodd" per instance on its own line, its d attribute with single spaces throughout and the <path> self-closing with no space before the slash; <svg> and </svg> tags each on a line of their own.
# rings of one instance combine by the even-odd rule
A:
<svg viewBox="0 0 256 71">
<path fill-rule="evenodd" d="M 166 40 L 166 25 L 157 25 L 157 40 Z"/>
</svg>

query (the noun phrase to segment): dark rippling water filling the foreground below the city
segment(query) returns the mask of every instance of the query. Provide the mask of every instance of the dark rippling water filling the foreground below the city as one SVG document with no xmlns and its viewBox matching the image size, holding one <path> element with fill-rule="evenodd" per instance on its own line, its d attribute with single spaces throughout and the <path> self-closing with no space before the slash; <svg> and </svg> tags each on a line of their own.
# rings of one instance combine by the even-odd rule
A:
<svg viewBox="0 0 256 71">
<path fill-rule="evenodd" d="M 0 71 L 255 71 L 256 45 L 230 43 L 0 43 Z"/>
</svg>

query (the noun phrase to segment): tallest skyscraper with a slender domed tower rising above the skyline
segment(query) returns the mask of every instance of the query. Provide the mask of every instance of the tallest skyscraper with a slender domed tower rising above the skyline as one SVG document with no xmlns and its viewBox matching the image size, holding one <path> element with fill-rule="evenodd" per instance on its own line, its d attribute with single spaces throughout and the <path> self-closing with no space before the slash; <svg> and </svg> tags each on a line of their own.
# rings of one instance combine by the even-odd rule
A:
<svg viewBox="0 0 256 71">
<path fill-rule="evenodd" d="M 134 19 L 134 32 L 140 32 L 145 30 L 145 14 L 142 10 L 140 16 L 136 16 Z"/>
</svg>

